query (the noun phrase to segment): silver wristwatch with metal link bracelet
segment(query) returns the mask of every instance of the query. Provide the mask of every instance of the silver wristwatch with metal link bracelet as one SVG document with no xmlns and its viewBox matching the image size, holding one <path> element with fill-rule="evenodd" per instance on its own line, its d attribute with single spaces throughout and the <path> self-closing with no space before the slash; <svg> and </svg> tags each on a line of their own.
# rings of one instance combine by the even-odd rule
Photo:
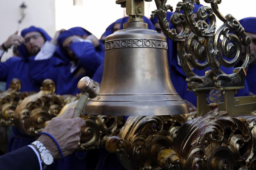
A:
<svg viewBox="0 0 256 170">
<path fill-rule="evenodd" d="M 48 165 L 53 163 L 53 156 L 51 152 L 39 141 L 32 142 L 31 144 L 35 145 L 40 152 L 43 169 L 45 170 Z"/>
</svg>

